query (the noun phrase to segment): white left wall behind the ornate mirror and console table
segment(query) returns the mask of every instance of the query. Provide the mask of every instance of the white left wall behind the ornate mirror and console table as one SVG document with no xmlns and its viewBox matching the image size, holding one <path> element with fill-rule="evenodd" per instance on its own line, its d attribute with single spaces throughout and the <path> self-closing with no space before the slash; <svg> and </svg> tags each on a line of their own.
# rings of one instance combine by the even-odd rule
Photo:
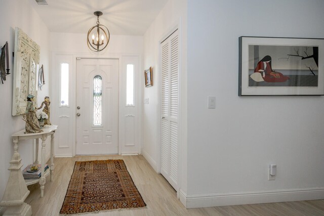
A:
<svg viewBox="0 0 324 216">
<path fill-rule="evenodd" d="M 13 144 L 11 135 L 25 128 L 25 123 L 21 116 L 12 116 L 12 97 L 13 97 L 13 71 L 15 44 L 15 27 L 21 28 L 30 38 L 32 38 L 41 47 L 40 63 L 44 64 L 46 84 L 42 91 L 38 91 L 38 106 L 41 105 L 45 96 L 49 95 L 49 73 L 50 73 L 50 52 L 49 37 L 50 33 L 45 24 L 30 6 L 27 0 L 0 0 L 0 45 L 5 42 L 9 44 L 10 72 L 4 84 L 0 83 L 1 101 L 0 108 L 0 198 L 2 199 L 7 181 L 9 178 L 9 161 L 13 154 Z M 20 142 L 19 153 L 22 158 L 24 168 L 33 162 L 32 141 Z M 40 158 L 40 157 L 39 157 Z"/>
</svg>

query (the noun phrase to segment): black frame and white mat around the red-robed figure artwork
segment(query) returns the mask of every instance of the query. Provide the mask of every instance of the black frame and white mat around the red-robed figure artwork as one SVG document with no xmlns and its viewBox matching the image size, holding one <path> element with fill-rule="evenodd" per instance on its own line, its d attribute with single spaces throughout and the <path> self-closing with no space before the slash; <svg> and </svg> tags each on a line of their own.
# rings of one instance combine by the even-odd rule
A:
<svg viewBox="0 0 324 216">
<path fill-rule="evenodd" d="M 318 47 L 317 87 L 249 87 L 249 46 Z M 238 96 L 324 95 L 324 39 L 296 37 L 239 37 Z"/>
</svg>

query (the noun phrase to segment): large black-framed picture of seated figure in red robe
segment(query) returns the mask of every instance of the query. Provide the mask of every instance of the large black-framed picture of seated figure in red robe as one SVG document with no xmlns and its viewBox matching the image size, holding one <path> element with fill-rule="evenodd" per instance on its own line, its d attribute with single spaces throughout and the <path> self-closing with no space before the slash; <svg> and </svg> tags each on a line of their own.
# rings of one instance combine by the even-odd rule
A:
<svg viewBox="0 0 324 216">
<path fill-rule="evenodd" d="M 238 95 L 324 95 L 324 39 L 239 37 Z"/>
</svg>

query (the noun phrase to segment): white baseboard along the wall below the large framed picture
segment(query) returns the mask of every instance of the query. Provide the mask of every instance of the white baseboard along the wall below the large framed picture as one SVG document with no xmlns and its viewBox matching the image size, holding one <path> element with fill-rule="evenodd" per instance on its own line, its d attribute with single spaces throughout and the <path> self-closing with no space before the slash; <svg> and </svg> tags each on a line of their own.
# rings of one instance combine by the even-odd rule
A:
<svg viewBox="0 0 324 216">
<path fill-rule="evenodd" d="M 323 198 L 324 187 L 200 195 L 186 195 L 180 190 L 179 194 L 179 199 L 186 208 L 290 202 Z"/>
</svg>

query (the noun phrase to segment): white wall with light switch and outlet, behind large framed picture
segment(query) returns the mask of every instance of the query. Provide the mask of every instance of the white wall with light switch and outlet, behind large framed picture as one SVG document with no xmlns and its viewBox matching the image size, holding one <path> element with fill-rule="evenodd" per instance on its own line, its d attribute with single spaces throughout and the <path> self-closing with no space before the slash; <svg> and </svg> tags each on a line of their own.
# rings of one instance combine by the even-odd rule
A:
<svg viewBox="0 0 324 216">
<path fill-rule="evenodd" d="M 321 0 L 188 0 L 187 207 L 324 197 L 324 98 L 237 96 L 238 37 L 323 38 L 323 10 Z"/>
</svg>

